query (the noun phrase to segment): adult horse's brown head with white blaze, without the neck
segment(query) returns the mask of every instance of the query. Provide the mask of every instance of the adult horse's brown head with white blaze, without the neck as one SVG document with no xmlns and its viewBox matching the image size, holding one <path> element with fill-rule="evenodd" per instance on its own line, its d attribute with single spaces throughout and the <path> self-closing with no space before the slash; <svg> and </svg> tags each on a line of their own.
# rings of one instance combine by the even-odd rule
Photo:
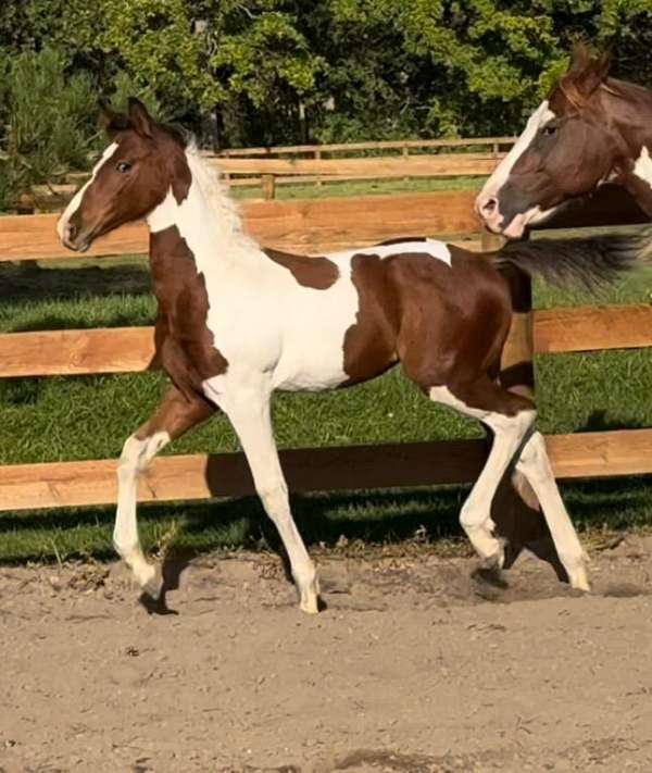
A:
<svg viewBox="0 0 652 773">
<path fill-rule="evenodd" d="M 619 84 L 607 83 L 607 71 L 606 55 L 575 48 L 567 73 L 476 199 L 490 230 L 518 238 L 564 201 L 615 176 L 627 150 L 617 116 L 605 104 Z"/>
</svg>

